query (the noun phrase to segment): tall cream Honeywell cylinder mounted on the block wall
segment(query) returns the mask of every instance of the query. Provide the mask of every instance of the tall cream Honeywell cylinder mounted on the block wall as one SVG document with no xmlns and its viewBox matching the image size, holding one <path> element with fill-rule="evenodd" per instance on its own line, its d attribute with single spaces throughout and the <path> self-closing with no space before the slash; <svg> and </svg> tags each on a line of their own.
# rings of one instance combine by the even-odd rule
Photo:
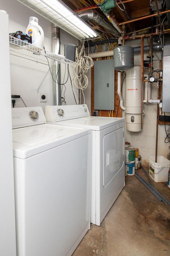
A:
<svg viewBox="0 0 170 256">
<path fill-rule="evenodd" d="M 141 66 L 138 65 L 126 71 L 125 118 L 128 131 L 141 131 Z"/>
</svg>

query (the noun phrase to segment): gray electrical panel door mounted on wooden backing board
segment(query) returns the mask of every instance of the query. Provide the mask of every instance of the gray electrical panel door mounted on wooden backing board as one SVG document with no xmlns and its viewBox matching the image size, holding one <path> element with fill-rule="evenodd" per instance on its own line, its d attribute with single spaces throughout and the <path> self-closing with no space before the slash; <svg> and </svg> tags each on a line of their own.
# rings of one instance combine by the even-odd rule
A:
<svg viewBox="0 0 170 256">
<path fill-rule="evenodd" d="M 114 110 L 113 59 L 94 61 L 94 109 Z"/>
</svg>

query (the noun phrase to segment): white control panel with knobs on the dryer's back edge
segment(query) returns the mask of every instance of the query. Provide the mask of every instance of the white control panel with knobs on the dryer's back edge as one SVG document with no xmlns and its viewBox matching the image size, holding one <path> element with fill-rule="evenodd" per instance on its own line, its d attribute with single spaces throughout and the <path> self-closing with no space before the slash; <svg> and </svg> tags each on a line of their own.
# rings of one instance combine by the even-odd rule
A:
<svg viewBox="0 0 170 256">
<path fill-rule="evenodd" d="M 90 116 L 90 113 L 86 104 L 45 106 L 45 118 L 47 122 L 58 122 L 88 116 Z"/>
</svg>

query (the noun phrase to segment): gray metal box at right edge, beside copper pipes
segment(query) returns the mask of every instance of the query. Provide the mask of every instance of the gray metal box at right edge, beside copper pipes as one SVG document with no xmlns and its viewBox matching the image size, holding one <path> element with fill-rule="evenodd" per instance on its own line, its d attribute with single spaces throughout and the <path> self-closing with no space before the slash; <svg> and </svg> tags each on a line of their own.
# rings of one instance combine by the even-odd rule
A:
<svg viewBox="0 0 170 256">
<path fill-rule="evenodd" d="M 162 112 L 170 112 L 169 95 L 170 95 L 170 46 L 163 47 L 163 72 L 162 72 Z"/>
</svg>

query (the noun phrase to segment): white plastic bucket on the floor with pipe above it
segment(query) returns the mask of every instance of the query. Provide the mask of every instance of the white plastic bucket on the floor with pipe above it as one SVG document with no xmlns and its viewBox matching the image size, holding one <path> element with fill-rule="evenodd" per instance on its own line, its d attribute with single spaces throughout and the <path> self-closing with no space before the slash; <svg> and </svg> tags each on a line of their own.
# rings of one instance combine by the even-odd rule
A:
<svg viewBox="0 0 170 256">
<path fill-rule="evenodd" d="M 155 162 L 155 156 L 149 157 L 149 176 L 155 182 L 168 182 L 168 171 L 170 168 L 170 161 L 162 155 L 157 156 L 157 162 Z"/>
</svg>

